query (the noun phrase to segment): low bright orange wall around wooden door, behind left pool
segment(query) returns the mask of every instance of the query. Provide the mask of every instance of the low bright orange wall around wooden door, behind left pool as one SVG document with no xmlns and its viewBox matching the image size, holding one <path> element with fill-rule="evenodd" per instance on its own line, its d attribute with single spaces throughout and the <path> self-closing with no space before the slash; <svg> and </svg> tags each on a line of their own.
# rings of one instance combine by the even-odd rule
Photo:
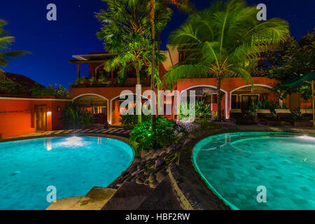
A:
<svg viewBox="0 0 315 224">
<path fill-rule="evenodd" d="M 34 109 L 36 105 L 45 105 L 52 112 L 47 116 L 47 131 L 62 129 L 60 118 L 69 102 L 53 99 L 3 98 L 0 99 L 0 138 L 35 132 Z"/>
</svg>

